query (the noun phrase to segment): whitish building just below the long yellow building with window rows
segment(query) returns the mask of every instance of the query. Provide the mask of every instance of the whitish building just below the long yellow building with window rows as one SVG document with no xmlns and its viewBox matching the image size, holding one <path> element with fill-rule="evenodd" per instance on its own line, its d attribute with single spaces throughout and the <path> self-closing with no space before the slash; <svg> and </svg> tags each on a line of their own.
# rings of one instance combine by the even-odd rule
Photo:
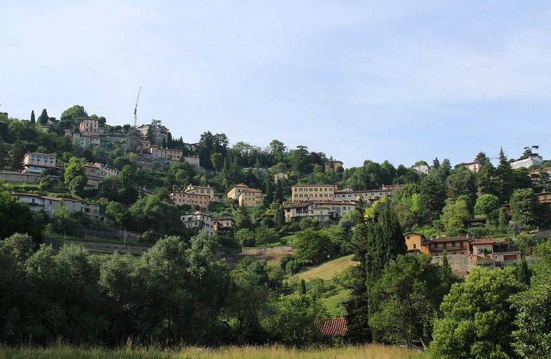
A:
<svg viewBox="0 0 551 359">
<path fill-rule="evenodd" d="M 355 208 L 355 203 L 337 201 L 284 202 L 282 207 L 286 223 L 303 217 L 325 222 L 346 215 Z"/>
</svg>

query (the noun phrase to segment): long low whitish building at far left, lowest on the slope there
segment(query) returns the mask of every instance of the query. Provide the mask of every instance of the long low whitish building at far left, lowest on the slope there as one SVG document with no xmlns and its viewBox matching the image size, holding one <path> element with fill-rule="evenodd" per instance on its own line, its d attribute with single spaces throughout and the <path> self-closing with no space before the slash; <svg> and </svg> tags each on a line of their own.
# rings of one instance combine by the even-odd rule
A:
<svg viewBox="0 0 551 359">
<path fill-rule="evenodd" d="M 20 202 L 29 205 L 30 210 L 44 210 L 45 213 L 52 213 L 59 206 L 64 206 L 70 213 L 84 213 L 94 221 L 101 221 L 99 204 L 79 201 L 78 199 L 59 198 L 36 195 L 34 193 L 13 193 Z"/>
</svg>

